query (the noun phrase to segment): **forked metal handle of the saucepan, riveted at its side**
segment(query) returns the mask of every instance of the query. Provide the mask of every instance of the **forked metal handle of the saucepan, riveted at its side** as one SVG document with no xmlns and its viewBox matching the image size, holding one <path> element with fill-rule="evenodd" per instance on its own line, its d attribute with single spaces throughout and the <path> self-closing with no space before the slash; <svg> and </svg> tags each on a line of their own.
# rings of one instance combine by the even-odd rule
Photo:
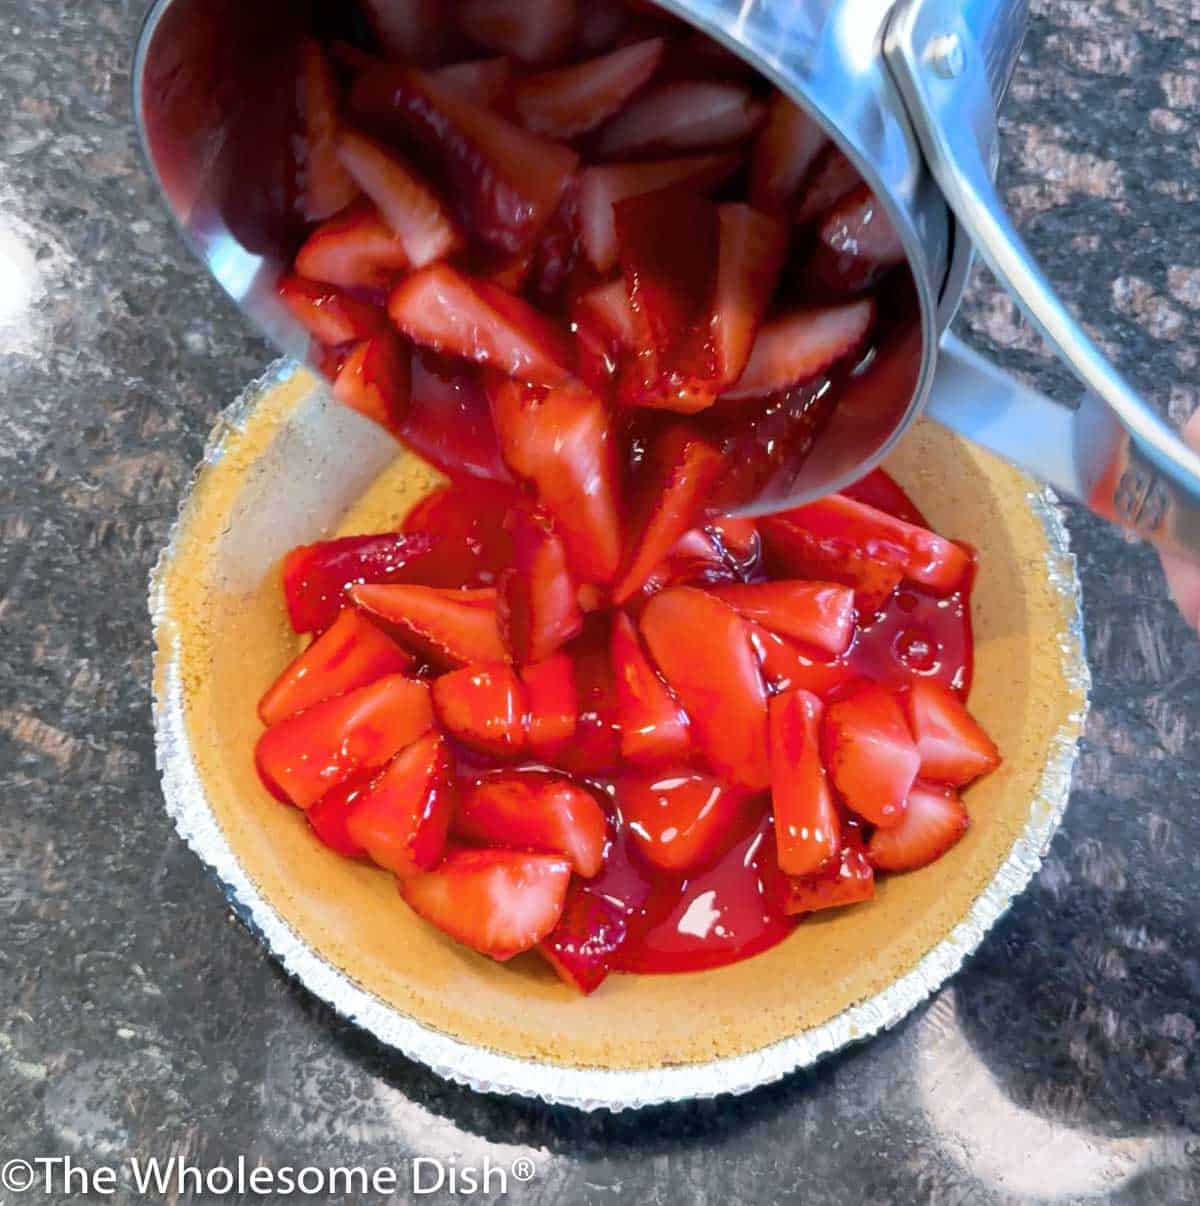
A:
<svg viewBox="0 0 1200 1206">
<path fill-rule="evenodd" d="M 1200 455 L 1100 352 L 1017 234 L 984 148 L 996 113 L 987 65 L 958 0 L 906 0 L 885 39 L 930 171 L 976 250 L 1088 387 L 1078 409 L 1008 377 L 953 335 L 929 412 L 1093 510 L 1200 561 Z"/>
</svg>

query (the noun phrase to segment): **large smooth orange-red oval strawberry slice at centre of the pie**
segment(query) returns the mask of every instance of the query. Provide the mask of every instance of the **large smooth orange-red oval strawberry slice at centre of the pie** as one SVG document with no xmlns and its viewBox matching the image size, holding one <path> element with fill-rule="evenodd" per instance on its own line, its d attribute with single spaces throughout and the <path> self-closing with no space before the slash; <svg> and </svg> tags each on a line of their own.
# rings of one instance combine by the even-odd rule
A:
<svg viewBox="0 0 1200 1206">
<path fill-rule="evenodd" d="M 691 720 L 697 749 L 731 783 L 763 790 L 767 693 L 742 617 L 704 591 L 672 586 L 646 604 L 642 636 Z"/>
</svg>

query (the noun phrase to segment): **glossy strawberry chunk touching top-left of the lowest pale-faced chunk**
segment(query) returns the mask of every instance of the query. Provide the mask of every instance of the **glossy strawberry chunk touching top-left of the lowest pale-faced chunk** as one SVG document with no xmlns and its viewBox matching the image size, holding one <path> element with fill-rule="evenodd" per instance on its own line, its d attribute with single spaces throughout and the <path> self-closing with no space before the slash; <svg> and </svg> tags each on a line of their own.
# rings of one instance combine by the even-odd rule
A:
<svg viewBox="0 0 1200 1206">
<path fill-rule="evenodd" d="M 446 743 L 427 733 L 397 754 L 350 804 L 346 833 L 373 862 L 414 876 L 441 857 L 453 798 Z"/>
</svg>

